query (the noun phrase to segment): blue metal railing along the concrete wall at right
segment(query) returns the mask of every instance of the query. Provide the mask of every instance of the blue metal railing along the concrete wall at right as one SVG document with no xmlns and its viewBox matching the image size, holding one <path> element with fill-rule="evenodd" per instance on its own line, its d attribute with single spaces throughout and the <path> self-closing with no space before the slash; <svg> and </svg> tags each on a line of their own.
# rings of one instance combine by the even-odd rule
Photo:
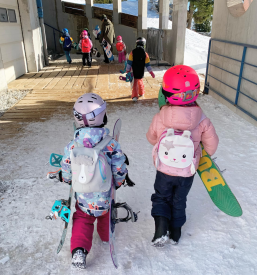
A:
<svg viewBox="0 0 257 275">
<path fill-rule="evenodd" d="M 237 59 L 237 58 L 232 58 L 228 55 L 223 55 L 223 54 L 220 54 L 218 52 L 215 52 L 215 49 L 217 49 L 216 47 L 212 47 L 212 44 L 214 42 L 219 42 L 219 43 L 226 43 L 226 44 L 232 44 L 232 45 L 235 45 L 235 46 L 239 46 L 239 47 L 242 47 L 243 49 L 243 53 L 242 53 L 242 58 L 241 59 Z M 242 81 L 247 81 L 247 82 L 250 82 L 254 85 L 257 85 L 257 83 L 255 81 L 252 81 L 248 78 L 246 78 L 246 74 L 244 75 L 244 69 L 245 69 L 245 66 L 249 66 L 249 68 L 257 68 L 257 65 L 254 65 L 250 62 L 246 62 L 246 53 L 247 53 L 247 49 L 254 49 L 254 50 L 257 50 L 257 46 L 255 45 L 249 45 L 249 44 L 244 44 L 244 43 L 237 43 L 237 42 L 231 42 L 231 41 L 226 41 L 226 40 L 220 40 L 220 39 L 210 39 L 210 42 L 209 42 L 209 52 L 208 52 L 208 59 L 207 59 L 207 68 L 206 68 L 206 75 L 205 75 L 205 93 L 208 94 L 208 91 L 209 89 L 212 90 L 214 93 L 218 94 L 220 97 L 222 97 L 223 99 L 227 100 L 229 103 L 231 103 L 232 105 L 234 105 L 236 108 L 238 108 L 239 110 L 241 110 L 242 112 L 246 113 L 248 116 L 250 116 L 251 118 L 253 118 L 254 120 L 257 120 L 257 116 L 254 115 L 251 111 L 253 111 L 253 108 L 251 108 L 250 106 L 254 105 L 255 104 L 255 110 L 257 109 L 257 87 L 254 87 L 254 89 L 251 90 L 251 93 L 249 93 L 249 91 L 242 91 Z M 235 62 L 238 62 L 238 64 L 240 65 L 240 70 L 239 70 L 239 74 L 236 74 L 234 72 L 231 72 L 230 70 L 226 70 L 224 68 L 221 68 L 220 66 L 217 66 L 213 63 L 210 63 L 210 56 L 212 56 L 212 60 L 215 60 L 215 56 L 219 56 L 222 58 L 223 61 L 226 61 L 228 62 L 229 60 L 233 60 Z M 254 58 L 251 59 L 251 61 L 253 61 Z M 220 77 L 218 77 L 217 75 L 211 75 L 209 73 L 210 71 L 210 66 L 213 66 L 219 70 L 222 71 L 221 74 L 219 74 Z M 248 68 L 248 69 L 249 69 Z M 252 70 L 251 70 L 252 71 Z M 235 76 L 238 80 L 237 80 L 237 83 L 236 83 L 236 87 L 233 87 L 231 85 L 231 83 L 226 83 L 224 82 L 222 79 L 222 75 L 223 75 L 223 72 L 226 74 L 231 74 L 233 76 Z M 248 70 L 248 74 L 249 74 L 249 70 Z M 217 91 L 217 89 L 215 89 L 214 87 L 210 86 L 209 82 L 208 82 L 208 78 L 213 78 L 215 79 L 216 81 L 218 81 L 219 83 L 225 85 L 226 87 L 229 87 L 233 92 L 234 90 L 234 94 L 235 94 L 235 97 L 233 100 L 231 100 L 231 96 L 229 95 L 229 98 L 228 98 L 228 94 L 224 94 L 222 93 L 221 91 Z M 256 79 L 257 78 L 257 75 L 254 76 L 254 78 Z M 253 96 L 252 96 L 253 95 Z M 248 104 L 240 104 L 239 100 L 241 97 L 245 97 L 247 98 L 249 101 Z M 253 104 L 252 104 L 253 103 Z M 247 106 L 249 105 L 249 106 Z M 247 108 L 249 107 L 249 108 Z"/>
</svg>

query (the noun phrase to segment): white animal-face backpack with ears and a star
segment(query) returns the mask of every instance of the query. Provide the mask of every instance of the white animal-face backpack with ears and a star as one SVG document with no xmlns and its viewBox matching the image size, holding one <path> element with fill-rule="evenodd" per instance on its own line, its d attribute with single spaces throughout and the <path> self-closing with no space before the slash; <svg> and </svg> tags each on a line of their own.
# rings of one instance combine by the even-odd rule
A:
<svg viewBox="0 0 257 275">
<path fill-rule="evenodd" d="M 187 168 L 189 166 L 192 175 L 196 172 L 194 143 L 190 131 L 168 129 L 163 132 L 157 143 L 157 148 L 154 148 L 154 150 L 157 153 L 155 167 L 158 169 L 160 162 L 163 163 L 162 171 L 164 173 L 168 172 L 169 167 Z M 167 169 L 165 169 L 165 166 Z"/>
</svg>

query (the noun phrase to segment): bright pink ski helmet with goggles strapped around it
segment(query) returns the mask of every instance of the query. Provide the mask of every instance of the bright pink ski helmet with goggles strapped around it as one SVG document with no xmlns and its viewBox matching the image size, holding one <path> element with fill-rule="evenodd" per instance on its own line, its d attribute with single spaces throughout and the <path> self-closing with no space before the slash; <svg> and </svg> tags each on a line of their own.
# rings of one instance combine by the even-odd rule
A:
<svg viewBox="0 0 257 275">
<path fill-rule="evenodd" d="M 162 82 L 162 93 L 172 105 L 186 105 L 196 101 L 200 80 L 194 69 L 177 65 L 168 69 Z"/>
</svg>

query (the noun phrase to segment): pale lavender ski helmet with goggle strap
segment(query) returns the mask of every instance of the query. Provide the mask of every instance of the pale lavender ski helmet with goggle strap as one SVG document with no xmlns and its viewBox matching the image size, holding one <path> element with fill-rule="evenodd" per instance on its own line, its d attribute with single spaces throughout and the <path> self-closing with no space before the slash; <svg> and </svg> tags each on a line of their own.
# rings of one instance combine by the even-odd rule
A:
<svg viewBox="0 0 257 275">
<path fill-rule="evenodd" d="M 84 94 L 77 99 L 73 107 L 77 127 L 105 125 L 106 102 L 97 94 Z"/>
</svg>

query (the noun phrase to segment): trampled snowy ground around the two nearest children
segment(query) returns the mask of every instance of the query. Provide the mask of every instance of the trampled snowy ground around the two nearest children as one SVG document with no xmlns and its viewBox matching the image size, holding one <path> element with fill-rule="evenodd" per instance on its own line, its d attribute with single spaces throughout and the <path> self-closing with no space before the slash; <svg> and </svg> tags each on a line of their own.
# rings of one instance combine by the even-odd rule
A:
<svg viewBox="0 0 257 275">
<path fill-rule="evenodd" d="M 154 222 L 150 215 L 155 169 L 152 146 L 145 134 L 157 100 L 108 103 L 112 128 L 123 122 L 121 145 L 130 159 L 134 188 L 121 188 L 119 201 L 141 211 L 136 224 L 117 226 L 119 269 L 113 267 L 109 248 L 95 232 L 88 267 L 79 274 L 257 274 L 256 160 L 257 128 L 238 117 L 210 96 L 198 100 L 211 118 L 220 138 L 216 156 L 238 198 L 243 216 L 232 218 L 210 200 L 198 175 L 188 196 L 187 223 L 181 242 L 156 249 L 150 245 Z M 71 109 L 50 120 L 30 123 L 15 138 L 1 141 L 0 157 L 0 274 L 70 274 L 69 240 L 59 255 L 56 249 L 63 222 L 47 221 L 55 199 L 68 197 L 68 186 L 45 179 L 50 153 L 62 153 L 72 139 Z M 255 162 L 254 162 L 255 160 Z"/>
</svg>

